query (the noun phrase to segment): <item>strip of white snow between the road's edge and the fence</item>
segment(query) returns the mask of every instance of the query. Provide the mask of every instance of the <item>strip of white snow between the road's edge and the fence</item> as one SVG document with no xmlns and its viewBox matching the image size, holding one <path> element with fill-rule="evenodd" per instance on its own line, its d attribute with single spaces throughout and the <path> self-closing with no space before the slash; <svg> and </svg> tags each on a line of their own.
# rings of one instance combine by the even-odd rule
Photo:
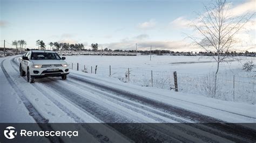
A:
<svg viewBox="0 0 256 143">
<path fill-rule="evenodd" d="M 218 118 L 229 123 L 255 123 L 256 105 L 246 103 L 227 102 L 219 99 L 199 95 L 183 94 L 170 90 L 139 87 L 130 83 L 123 83 L 115 78 L 94 74 L 86 74 L 71 70 L 72 74 L 93 82 L 125 90 L 139 96 L 151 98 L 166 104 L 198 112 L 210 117 Z M 247 116 L 247 117 L 244 117 Z"/>
</svg>

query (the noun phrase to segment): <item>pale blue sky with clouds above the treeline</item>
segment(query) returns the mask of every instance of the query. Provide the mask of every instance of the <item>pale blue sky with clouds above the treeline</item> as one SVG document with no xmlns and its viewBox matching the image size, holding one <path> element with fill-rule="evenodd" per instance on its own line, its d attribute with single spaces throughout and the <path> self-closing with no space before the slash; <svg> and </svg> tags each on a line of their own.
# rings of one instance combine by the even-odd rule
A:
<svg viewBox="0 0 256 143">
<path fill-rule="evenodd" d="M 204 12 L 204 0 L 170 1 L 1 1 L 1 47 L 6 40 L 24 39 L 26 47 L 36 47 L 40 39 L 49 42 L 92 43 L 103 47 L 190 50 L 184 33 L 186 24 Z M 235 0 L 237 14 L 255 12 L 255 0 Z M 235 13 L 235 12 L 234 12 Z M 255 20 L 255 17 L 253 17 Z M 254 26 L 255 23 L 253 23 Z M 243 45 L 255 45 L 255 28 L 243 33 Z M 245 46 L 245 49 L 251 48 Z M 255 49 L 255 46 L 251 49 Z"/>
</svg>

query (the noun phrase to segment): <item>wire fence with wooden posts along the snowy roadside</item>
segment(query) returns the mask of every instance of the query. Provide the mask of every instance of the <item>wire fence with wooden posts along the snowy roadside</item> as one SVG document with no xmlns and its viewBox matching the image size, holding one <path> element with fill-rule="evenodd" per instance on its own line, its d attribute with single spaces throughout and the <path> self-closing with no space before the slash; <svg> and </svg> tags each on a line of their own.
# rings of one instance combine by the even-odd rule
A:
<svg viewBox="0 0 256 143">
<path fill-rule="evenodd" d="M 175 87 L 173 71 L 153 71 L 137 68 L 99 67 L 70 63 L 73 70 L 118 78 L 143 87 L 156 87 L 173 90 Z M 256 78 L 235 75 L 184 74 L 177 73 L 177 90 L 187 94 L 203 95 L 224 101 L 256 103 Z M 216 83 L 216 84 L 215 84 Z"/>
</svg>

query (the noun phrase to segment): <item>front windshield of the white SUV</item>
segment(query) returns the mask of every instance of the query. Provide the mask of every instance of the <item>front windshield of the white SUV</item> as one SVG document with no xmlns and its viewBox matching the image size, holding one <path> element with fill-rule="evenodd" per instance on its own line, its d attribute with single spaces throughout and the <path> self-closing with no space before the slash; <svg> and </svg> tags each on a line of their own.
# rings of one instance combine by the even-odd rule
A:
<svg viewBox="0 0 256 143">
<path fill-rule="evenodd" d="M 60 60 L 57 53 L 49 52 L 32 52 L 31 60 Z"/>
</svg>

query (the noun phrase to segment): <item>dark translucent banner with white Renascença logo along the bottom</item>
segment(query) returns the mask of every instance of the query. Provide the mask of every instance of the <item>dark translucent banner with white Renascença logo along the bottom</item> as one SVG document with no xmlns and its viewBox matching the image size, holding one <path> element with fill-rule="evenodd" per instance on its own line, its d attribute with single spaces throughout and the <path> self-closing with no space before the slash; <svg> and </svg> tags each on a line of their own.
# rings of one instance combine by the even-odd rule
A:
<svg viewBox="0 0 256 143">
<path fill-rule="evenodd" d="M 255 142 L 256 124 L 0 123 L 0 142 Z"/>
</svg>

